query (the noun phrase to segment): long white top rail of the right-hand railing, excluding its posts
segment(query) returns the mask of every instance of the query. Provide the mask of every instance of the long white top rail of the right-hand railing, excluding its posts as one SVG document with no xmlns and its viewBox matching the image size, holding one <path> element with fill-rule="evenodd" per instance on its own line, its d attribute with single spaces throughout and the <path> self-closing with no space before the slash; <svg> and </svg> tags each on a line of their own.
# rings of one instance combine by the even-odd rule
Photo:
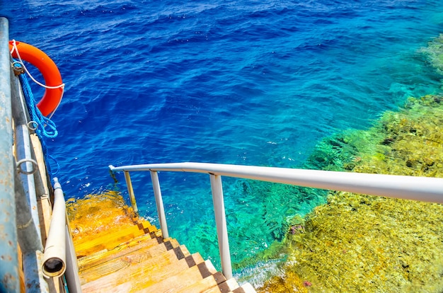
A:
<svg viewBox="0 0 443 293">
<path fill-rule="evenodd" d="M 111 171 L 182 171 L 247 178 L 326 190 L 443 203 L 443 178 L 397 176 L 217 163 L 109 166 Z"/>
</svg>

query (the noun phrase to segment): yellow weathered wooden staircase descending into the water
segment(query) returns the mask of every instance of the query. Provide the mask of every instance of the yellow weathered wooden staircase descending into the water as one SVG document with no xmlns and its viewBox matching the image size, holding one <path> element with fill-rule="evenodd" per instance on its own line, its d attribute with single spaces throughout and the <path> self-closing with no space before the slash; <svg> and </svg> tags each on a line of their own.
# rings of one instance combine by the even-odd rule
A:
<svg viewBox="0 0 443 293">
<path fill-rule="evenodd" d="M 77 234 L 74 246 L 83 292 L 255 292 L 139 219 L 92 236 Z"/>
</svg>

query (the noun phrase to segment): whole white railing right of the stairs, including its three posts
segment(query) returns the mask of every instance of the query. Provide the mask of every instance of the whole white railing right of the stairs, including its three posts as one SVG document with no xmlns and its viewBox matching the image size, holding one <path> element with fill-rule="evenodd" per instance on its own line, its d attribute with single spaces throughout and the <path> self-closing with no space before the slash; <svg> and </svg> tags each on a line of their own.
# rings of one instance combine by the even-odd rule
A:
<svg viewBox="0 0 443 293">
<path fill-rule="evenodd" d="M 120 167 L 109 166 L 109 168 L 110 171 L 113 172 L 125 172 L 125 180 L 132 203 L 135 203 L 135 196 L 134 190 L 132 189 L 130 171 L 149 171 L 151 173 L 157 212 L 159 213 L 159 222 L 164 238 L 168 238 L 169 234 L 157 172 L 176 171 L 209 174 L 217 225 L 219 252 L 222 260 L 222 271 L 227 279 L 232 277 L 232 268 L 224 211 L 222 176 L 443 204 L 443 178 L 239 166 L 215 163 L 159 163 Z M 134 207 L 134 210 L 137 211 L 137 205 Z"/>
</svg>

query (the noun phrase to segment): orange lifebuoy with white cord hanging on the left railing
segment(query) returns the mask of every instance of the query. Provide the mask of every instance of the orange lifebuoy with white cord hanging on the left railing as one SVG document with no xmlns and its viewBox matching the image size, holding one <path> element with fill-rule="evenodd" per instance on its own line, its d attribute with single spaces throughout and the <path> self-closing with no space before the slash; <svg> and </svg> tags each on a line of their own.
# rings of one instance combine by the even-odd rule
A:
<svg viewBox="0 0 443 293">
<path fill-rule="evenodd" d="M 63 96 L 62 75 L 57 65 L 45 52 L 25 42 L 9 41 L 9 50 L 13 58 L 18 58 L 17 50 L 13 50 L 14 45 L 21 59 L 37 67 L 45 79 L 45 86 L 50 87 L 46 88 L 43 98 L 37 104 L 42 115 L 50 115 L 57 109 Z"/>
</svg>

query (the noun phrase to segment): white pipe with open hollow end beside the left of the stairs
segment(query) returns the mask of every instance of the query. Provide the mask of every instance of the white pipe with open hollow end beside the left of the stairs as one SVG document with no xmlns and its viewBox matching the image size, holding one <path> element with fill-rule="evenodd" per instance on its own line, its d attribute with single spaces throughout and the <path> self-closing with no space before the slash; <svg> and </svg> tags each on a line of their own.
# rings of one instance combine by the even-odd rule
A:
<svg viewBox="0 0 443 293">
<path fill-rule="evenodd" d="M 62 186 L 54 178 L 54 207 L 47 236 L 42 271 L 47 277 L 59 277 L 66 270 L 66 204 Z"/>
</svg>

